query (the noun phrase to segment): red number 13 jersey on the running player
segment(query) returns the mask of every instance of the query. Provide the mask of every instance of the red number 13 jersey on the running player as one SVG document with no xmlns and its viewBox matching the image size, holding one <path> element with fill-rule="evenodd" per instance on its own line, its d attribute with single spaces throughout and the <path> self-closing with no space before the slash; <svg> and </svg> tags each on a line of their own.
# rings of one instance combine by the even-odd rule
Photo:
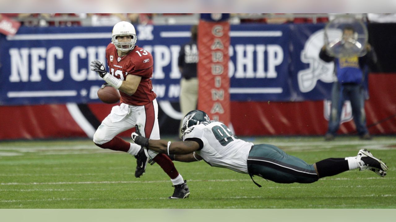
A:
<svg viewBox="0 0 396 222">
<path fill-rule="evenodd" d="M 153 72 L 153 60 L 149 52 L 135 45 L 135 48 L 128 55 L 119 57 L 116 47 L 113 43 L 110 43 L 106 49 L 106 58 L 110 74 L 117 79 L 125 80 L 127 75 L 142 77 L 136 92 L 132 96 L 120 91 L 120 103 L 146 105 L 157 97 L 152 91 L 150 78 Z"/>
</svg>

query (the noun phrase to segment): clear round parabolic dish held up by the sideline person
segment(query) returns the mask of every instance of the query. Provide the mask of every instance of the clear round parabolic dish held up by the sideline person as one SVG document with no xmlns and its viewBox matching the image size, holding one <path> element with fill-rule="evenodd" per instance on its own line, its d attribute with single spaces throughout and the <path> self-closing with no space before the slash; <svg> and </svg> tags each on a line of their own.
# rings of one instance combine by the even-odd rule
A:
<svg viewBox="0 0 396 222">
<path fill-rule="evenodd" d="M 325 27 L 326 50 L 337 58 L 364 56 L 367 40 L 366 25 L 352 15 L 336 17 Z"/>
</svg>

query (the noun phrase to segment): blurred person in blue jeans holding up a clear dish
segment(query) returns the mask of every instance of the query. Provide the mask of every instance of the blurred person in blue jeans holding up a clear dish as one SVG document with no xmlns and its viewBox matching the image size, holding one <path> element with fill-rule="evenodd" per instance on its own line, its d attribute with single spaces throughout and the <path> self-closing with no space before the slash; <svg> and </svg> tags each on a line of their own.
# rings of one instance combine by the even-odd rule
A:
<svg viewBox="0 0 396 222">
<path fill-rule="evenodd" d="M 355 36 L 352 26 L 343 28 L 344 41 Z M 319 58 L 324 62 L 334 62 L 334 74 L 337 81 L 333 83 L 331 91 L 330 119 L 325 140 L 333 140 L 340 126 L 341 111 L 345 100 L 350 101 L 352 107 L 353 120 L 360 139 L 371 139 L 366 126 L 366 113 L 364 111 L 364 79 L 367 78 L 367 66 L 373 68 L 377 62 L 377 56 L 369 43 L 366 45 L 367 54 L 358 57 L 335 58 L 326 50 L 326 45 L 322 47 Z"/>
</svg>

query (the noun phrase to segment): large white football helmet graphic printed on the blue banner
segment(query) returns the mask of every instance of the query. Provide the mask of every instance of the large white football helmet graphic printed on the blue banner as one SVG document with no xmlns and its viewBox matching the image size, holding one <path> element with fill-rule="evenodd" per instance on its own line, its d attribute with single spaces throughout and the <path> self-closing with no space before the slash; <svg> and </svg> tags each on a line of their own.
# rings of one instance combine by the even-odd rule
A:
<svg viewBox="0 0 396 222">
<path fill-rule="evenodd" d="M 309 92 L 316 86 L 316 82 L 321 80 L 325 83 L 332 83 L 335 80 L 333 75 L 334 62 L 324 62 L 319 58 L 320 49 L 324 45 L 324 30 L 314 32 L 305 42 L 301 52 L 301 61 L 309 64 L 309 68 L 301 70 L 297 74 L 298 86 L 301 92 Z"/>
</svg>

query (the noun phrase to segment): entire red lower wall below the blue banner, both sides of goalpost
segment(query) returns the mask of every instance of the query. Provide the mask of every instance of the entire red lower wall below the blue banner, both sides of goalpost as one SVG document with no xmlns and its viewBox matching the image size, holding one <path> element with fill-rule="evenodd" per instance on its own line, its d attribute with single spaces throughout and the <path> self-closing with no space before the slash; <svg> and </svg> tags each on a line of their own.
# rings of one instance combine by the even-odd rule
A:
<svg viewBox="0 0 396 222">
<path fill-rule="evenodd" d="M 395 74 L 369 75 L 367 128 L 372 135 L 396 134 Z M 231 102 L 232 126 L 238 136 L 324 135 L 324 101 Z M 0 140 L 92 137 L 114 104 L 0 105 Z M 162 114 L 164 115 L 164 114 Z M 166 123 L 169 124 L 169 123 Z M 120 134 L 131 135 L 133 128 Z M 166 135 L 166 132 L 161 132 Z M 339 134 L 356 134 L 353 120 L 341 124 Z"/>
</svg>

